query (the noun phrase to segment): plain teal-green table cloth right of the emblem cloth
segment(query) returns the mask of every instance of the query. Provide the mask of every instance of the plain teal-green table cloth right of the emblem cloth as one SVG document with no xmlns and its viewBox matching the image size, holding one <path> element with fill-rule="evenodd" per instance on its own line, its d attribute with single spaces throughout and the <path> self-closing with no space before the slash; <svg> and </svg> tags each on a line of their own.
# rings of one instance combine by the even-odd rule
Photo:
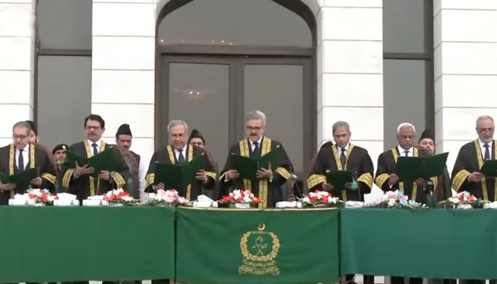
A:
<svg viewBox="0 0 497 284">
<path fill-rule="evenodd" d="M 342 274 L 496 279 L 497 210 L 342 209 Z"/>
</svg>

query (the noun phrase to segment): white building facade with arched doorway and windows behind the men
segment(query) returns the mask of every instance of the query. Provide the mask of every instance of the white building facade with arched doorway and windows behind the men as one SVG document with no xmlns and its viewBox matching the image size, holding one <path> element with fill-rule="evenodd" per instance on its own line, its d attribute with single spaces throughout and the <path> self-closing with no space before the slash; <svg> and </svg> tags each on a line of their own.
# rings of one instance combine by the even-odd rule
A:
<svg viewBox="0 0 497 284">
<path fill-rule="evenodd" d="M 150 158 L 185 119 L 222 166 L 260 109 L 298 175 L 337 120 L 375 165 L 401 122 L 432 129 L 450 170 L 497 117 L 496 28 L 495 0 L 0 0 L 0 143 L 26 119 L 74 143 L 94 113 Z"/>
</svg>

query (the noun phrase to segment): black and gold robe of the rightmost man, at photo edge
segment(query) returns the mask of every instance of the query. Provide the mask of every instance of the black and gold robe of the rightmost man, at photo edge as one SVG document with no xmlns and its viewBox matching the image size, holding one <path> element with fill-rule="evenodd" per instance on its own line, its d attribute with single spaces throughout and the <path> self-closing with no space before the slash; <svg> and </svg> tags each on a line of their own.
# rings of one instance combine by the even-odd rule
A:
<svg viewBox="0 0 497 284">
<path fill-rule="evenodd" d="M 496 141 L 492 141 L 491 159 L 497 157 Z M 495 178 L 481 180 L 481 182 L 469 182 L 470 173 L 479 172 L 484 164 L 484 155 L 481 153 L 481 148 L 478 139 L 464 144 L 457 154 L 456 163 L 452 169 L 452 187 L 456 191 L 464 191 L 472 193 L 475 197 L 483 200 L 496 200 L 497 182 Z"/>
</svg>

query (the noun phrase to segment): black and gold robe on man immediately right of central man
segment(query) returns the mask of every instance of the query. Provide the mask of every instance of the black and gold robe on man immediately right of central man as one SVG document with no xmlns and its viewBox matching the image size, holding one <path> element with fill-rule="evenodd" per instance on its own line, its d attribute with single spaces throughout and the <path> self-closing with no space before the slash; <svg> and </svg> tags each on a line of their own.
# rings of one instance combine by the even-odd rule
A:
<svg viewBox="0 0 497 284">
<path fill-rule="evenodd" d="M 371 192 L 374 168 L 373 161 L 366 149 L 349 144 L 345 167 L 342 168 L 339 148 L 331 143 L 322 146 L 317 153 L 309 178 L 307 178 L 309 191 L 322 190 L 322 184 L 326 182 L 327 170 L 353 170 L 356 172 L 358 190 L 333 189 L 332 194 L 339 197 L 340 200 L 364 201 L 364 194 Z"/>
</svg>

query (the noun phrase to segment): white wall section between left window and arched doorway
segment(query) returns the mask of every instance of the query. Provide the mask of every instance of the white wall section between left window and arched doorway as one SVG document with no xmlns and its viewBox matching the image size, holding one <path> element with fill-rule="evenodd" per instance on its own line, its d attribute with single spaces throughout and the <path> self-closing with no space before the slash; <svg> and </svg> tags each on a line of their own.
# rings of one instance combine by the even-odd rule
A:
<svg viewBox="0 0 497 284">
<path fill-rule="evenodd" d="M 129 124 L 131 150 L 148 163 L 154 151 L 155 4 L 125 2 L 93 0 L 92 113 L 106 121 L 108 143 Z"/>
</svg>

